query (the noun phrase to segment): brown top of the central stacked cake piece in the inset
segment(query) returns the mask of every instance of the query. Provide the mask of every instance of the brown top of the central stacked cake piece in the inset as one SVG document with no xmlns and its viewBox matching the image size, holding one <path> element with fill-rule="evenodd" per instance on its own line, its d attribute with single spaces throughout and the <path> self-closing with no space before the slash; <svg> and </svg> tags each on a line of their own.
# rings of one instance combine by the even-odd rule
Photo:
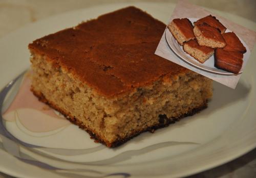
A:
<svg viewBox="0 0 256 178">
<path fill-rule="evenodd" d="M 221 33 L 214 27 L 211 26 L 196 26 L 205 38 L 212 39 L 218 42 L 226 43 Z"/>
</svg>

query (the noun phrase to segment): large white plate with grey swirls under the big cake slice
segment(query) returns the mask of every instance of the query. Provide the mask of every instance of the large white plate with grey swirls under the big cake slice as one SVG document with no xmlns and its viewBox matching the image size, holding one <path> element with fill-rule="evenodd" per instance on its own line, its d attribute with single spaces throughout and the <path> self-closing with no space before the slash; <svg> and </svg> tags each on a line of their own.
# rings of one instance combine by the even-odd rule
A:
<svg viewBox="0 0 256 178">
<path fill-rule="evenodd" d="M 32 40 L 127 5 L 61 14 L 0 39 L 0 88 L 29 68 L 27 45 Z M 175 7 L 160 3 L 135 5 L 162 21 L 168 20 Z M 237 18 L 233 16 L 233 20 Z M 248 24 L 253 28 L 255 23 Z M 143 133 L 114 149 L 94 143 L 75 125 L 32 132 L 19 119 L 0 120 L 5 123 L 0 127 L 0 171 L 17 177 L 177 177 L 226 163 L 256 146 L 254 66 L 256 61 L 249 60 L 236 90 L 215 83 L 214 97 L 201 113 L 154 134 Z M 6 98 L 4 107 L 14 98 L 19 83 L 20 79 L 5 88 L 8 95 L 1 93 L 0 100 Z"/>
</svg>

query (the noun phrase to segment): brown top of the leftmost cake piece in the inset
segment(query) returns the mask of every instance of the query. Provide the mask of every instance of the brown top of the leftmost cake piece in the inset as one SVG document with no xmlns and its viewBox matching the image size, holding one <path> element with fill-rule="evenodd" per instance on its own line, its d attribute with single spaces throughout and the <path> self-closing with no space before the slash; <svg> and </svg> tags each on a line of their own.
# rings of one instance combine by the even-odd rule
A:
<svg viewBox="0 0 256 178">
<path fill-rule="evenodd" d="M 186 38 L 195 38 L 192 23 L 187 18 L 175 18 L 173 22 Z"/>
</svg>

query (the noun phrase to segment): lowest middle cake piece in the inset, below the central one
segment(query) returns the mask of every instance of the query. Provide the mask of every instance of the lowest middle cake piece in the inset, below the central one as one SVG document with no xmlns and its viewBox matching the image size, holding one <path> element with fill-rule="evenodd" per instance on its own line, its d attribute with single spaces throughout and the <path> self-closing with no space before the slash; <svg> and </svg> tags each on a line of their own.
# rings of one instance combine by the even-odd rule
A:
<svg viewBox="0 0 256 178">
<path fill-rule="evenodd" d="M 190 40 L 184 43 L 183 50 L 194 57 L 201 63 L 204 63 L 211 55 L 214 54 L 214 49 L 206 46 L 200 46 L 197 40 Z"/>
</svg>

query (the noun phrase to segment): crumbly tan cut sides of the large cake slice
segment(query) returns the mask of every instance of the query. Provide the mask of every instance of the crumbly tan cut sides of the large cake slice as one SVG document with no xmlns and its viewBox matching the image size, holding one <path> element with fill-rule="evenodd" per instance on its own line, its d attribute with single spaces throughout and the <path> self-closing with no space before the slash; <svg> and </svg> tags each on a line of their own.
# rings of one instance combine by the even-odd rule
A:
<svg viewBox="0 0 256 178">
<path fill-rule="evenodd" d="M 31 63 L 34 94 L 110 147 L 205 108 L 212 95 L 212 81 L 188 71 L 106 98 L 45 56 L 32 53 Z"/>
</svg>

